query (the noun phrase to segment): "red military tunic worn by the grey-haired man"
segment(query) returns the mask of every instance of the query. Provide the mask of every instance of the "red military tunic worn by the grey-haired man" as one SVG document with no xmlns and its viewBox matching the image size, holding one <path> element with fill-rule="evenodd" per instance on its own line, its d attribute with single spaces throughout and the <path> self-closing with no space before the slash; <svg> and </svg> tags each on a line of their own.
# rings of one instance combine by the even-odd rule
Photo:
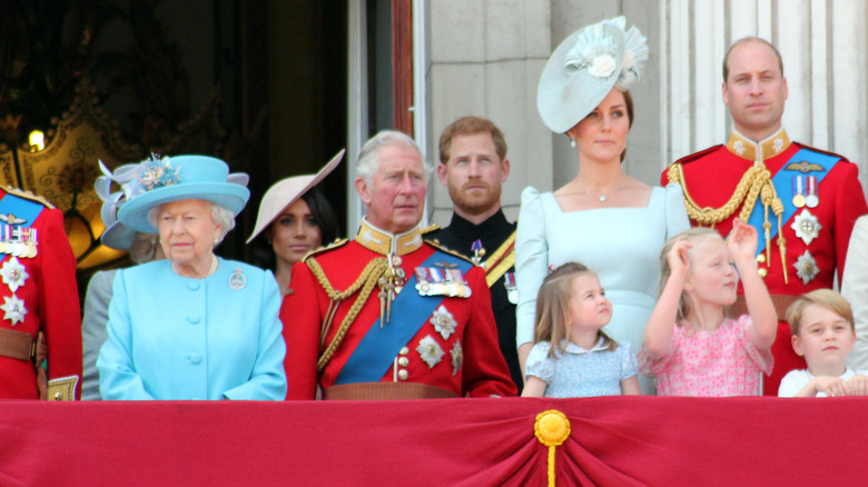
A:
<svg viewBox="0 0 868 487">
<path fill-rule="evenodd" d="M 374 286 L 358 310 L 346 334 L 334 349 L 327 364 L 317 372 L 317 360 L 335 340 L 341 325 L 358 297 L 356 290 L 337 305 L 334 319 L 320 346 L 320 327 L 328 315 L 329 299 L 323 281 L 312 271 L 317 265 L 322 276 L 336 291 L 345 291 L 359 280 L 372 260 L 383 258 L 389 251 L 400 257 L 398 267 L 406 279 L 415 276 L 417 267 L 443 260 L 443 250 L 423 242 L 418 228 L 408 233 L 392 236 L 363 221 L 355 240 L 331 247 L 308 256 L 293 268 L 293 292 L 284 300 L 280 320 L 287 344 L 286 374 L 287 399 L 313 399 L 317 384 L 328 396 L 328 388 L 336 384 L 344 366 L 356 351 L 366 334 L 381 319 L 379 287 Z M 454 256 L 452 258 L 455 258 Z M 312 260 L 315 264 L 312 265 Z M 364 280 L 364 276 L 363 280 Z M 497 346 L 497 328 L 491 310 L 491 296 L 485 282 L 485 272 L 471 267 L 464 275 L 472 291 L 468 297 L 448 296 L 401 296 L 420 294 L 410 284 L 396 297 L 420 298 L 431 301 L 434 312 L 425 316 L 406 316 L 395 308 L 383 327 L 397 327 L 410 322 L 411 330 L 418 329 L 401 350 L 384 356 L 387 370 L 379 376 L 381 382 L 415 382 L 434 386 L 455 396 L 489 397 L 514 396 L 515 385 Z M 454 327 L 453 332 L 437 330 L 437 318 Z M 444 336 L 445 335 L 445 336 Z M 369 338 L 369 337 L 368 337 Z"/>
</svg>

